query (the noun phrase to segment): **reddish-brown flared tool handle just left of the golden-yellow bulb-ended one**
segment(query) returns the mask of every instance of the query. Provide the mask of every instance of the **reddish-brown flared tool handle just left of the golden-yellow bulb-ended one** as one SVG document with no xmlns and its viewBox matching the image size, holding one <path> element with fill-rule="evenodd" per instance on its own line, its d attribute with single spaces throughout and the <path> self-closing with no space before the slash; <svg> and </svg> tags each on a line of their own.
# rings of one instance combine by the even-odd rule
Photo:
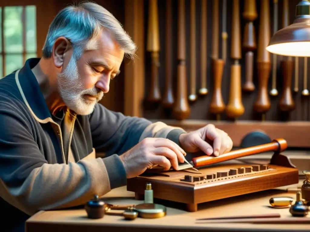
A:
<svg viewBox="0 0 310 232">
<path fill-rule="evenodd" d="M 214 90 L 212 100 L 210 103 L 210 112 L 213 114 L 220 114 L 225 110 L 225 104 L 222 97 L 222 78 L 224 70 L 224 60 L 212 60 L 213 76 L 214 76 Z"/>
</svg>

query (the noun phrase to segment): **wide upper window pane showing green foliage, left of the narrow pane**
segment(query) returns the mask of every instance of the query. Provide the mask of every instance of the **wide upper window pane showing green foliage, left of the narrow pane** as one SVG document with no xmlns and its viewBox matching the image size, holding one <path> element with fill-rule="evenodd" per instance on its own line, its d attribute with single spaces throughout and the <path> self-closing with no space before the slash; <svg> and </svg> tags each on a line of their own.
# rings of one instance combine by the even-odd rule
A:
<svg viewBox="0 0 310 232">
<path fill-rule="evenodd" d="M 4 7 L 4 49 L 6 52 L 23 51 L 22 6 Z"/>
</svg>

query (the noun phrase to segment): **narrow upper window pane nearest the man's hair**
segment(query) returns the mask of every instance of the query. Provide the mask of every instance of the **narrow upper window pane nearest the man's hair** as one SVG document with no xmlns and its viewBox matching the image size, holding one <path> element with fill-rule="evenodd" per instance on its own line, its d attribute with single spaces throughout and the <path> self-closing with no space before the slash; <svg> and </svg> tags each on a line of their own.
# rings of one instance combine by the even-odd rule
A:
<svg viewBox="0 0 310 232">
<path fill-rule="evenodd" d="M 26 6 L 26 52 L 37 51 L 36 6 Z"/>
</svg>

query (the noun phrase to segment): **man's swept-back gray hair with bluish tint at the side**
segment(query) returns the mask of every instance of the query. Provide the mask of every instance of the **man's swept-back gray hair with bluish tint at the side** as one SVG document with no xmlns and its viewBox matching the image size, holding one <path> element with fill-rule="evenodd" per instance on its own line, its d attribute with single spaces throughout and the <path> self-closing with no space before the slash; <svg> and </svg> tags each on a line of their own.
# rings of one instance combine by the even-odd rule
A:
<svg viewBox="0 0 310 232">
<path fill-rule="evenodd" d="M 78 60 L 103 28 L 113 35 L 126 56 L 135 56 L 136 45 L 120 22 L 104 7 L 89 1 L 67 6 L 56 15 L 49 27 L 42 56 L 51 58 L 56 39 L 65 37 L 72 43 L 73 57 Z"/>
</svg>

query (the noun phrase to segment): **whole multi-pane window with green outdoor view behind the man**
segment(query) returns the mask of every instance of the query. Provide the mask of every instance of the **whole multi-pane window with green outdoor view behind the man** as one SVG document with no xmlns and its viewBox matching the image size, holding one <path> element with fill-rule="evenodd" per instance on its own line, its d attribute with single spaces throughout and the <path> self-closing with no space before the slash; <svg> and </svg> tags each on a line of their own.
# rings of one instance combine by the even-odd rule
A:
<svg viewBox="0 0 310 232">
<path fill-rule="evenodd" d="M 36 6 L 0 7 L 0 77 L 37 56 Z"/>
</svg>

